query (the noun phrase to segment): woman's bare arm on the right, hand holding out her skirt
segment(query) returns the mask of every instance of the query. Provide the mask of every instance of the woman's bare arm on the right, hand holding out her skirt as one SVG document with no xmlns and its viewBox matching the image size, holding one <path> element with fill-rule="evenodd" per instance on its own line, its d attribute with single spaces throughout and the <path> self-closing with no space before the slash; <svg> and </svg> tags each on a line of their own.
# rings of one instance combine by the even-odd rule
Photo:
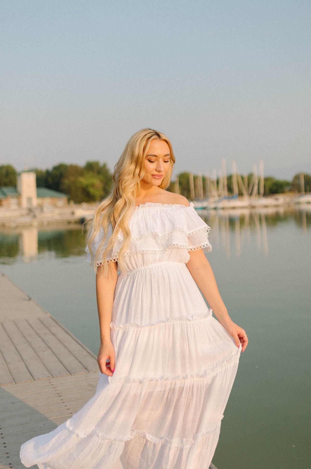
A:
<svg viewBox="0 0 311 469">
<path fill-rule="evenodd" d="M 225 303 L 222 301 L 220 296 L 212 267 L 203 250 L 197 249 L 195 251 L 189 251 L 189 254 L 190 259 L 187 263 L 187 267 L 193 280 L 205 296 L 206 301 L 212 308 L 220 324 L 226 329 L 231 337 L 233 337 L 237 347 L 239 347 L 241 342 L 242 352 L 244 352 L 248 344 L 246 332 L 230 318 Z"/>
</svg>

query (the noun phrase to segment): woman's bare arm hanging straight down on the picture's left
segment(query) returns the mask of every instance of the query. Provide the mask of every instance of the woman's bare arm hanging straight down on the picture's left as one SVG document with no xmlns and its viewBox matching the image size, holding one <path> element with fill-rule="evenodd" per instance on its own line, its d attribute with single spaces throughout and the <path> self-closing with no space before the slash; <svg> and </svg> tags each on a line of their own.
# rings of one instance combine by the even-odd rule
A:
<svg viewBox="0 0 311 469">
<path fill-rule="evenodd" d="M 96 273 L 96 299 L 99 315 L 100 347 L 97 357 L 99 370 L 105 375 L 112 376 L 115 366 L 114 346 L 110 339 L 110 323 L 114 303 L 114 289 L 118 279 L 117 263 L 108 264 L 106 277 L 100 275 L 100 267 Z M 106 360 L 110 360 L 110 364 Z"/>
</svg>

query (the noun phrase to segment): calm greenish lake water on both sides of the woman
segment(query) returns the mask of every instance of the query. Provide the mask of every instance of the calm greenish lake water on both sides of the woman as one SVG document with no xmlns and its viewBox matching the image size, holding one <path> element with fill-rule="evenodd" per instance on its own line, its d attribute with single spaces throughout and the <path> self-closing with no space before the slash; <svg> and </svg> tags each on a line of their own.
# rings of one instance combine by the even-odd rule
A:
<svg viewBox="0 0 311 469">
<path fill-rule="evenodd" d="M 222 420 L 219 469 L 310 469 L 311 207 L 200 212 L 231 318 L 250 344 Z M 95 273 L 81 227 L 0 231 L 0 270 L 96 355 Z"/>
</svg>

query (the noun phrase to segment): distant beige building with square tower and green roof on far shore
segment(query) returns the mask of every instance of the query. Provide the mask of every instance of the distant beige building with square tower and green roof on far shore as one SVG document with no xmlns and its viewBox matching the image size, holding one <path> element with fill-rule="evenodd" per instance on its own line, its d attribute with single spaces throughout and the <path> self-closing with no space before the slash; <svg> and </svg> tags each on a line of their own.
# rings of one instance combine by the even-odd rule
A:
<svg viewBox="0 0 311 469">
<path fill-rule="evenodd" d="M 37 187 L 34 171 L 17 174 L 17 187 L 0 187 L 0 207 L 62 207 L 68 204 L 68 195 L 56 190 Z"/>
</svg>

